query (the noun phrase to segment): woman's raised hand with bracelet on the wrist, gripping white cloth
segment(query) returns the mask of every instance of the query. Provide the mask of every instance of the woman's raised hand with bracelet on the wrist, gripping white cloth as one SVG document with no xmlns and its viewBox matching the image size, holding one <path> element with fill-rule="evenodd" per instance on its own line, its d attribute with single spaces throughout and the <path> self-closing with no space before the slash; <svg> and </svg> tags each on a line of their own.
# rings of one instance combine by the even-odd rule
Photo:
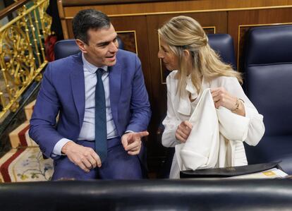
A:
<svg viewBox="0 0 292 211">
<path fill-rule="evenodd" d="M 233 111 L 235 114 L 245 116 L 245 108 L 243 102 L 238 100 L 237 97 L 230 95 L 225 88 L 212 88 L 211 94 L 215 107 L 218 109 L 220 106 L 226 107 L 227 109 Z"/>
</svg>

